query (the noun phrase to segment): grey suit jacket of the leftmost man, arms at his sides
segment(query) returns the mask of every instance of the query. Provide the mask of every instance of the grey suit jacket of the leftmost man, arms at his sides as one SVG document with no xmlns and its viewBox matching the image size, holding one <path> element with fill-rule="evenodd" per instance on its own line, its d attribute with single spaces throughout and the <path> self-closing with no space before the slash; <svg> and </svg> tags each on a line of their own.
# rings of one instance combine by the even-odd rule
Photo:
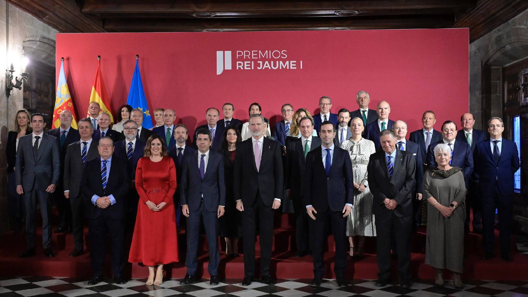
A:
<svg viewBox="0 0 528 297">
<path fill-rule="evenodd" d="M 33 134 L 18 139 L 15 183 L 22 185 L 25 192 L 35 187 L 45 191 L 49 185 L 56 185 L 61 176 L 59 145 L 55 137 L 46 133 L 40 136 L 36 155 L 33 154 Z"/>
</svg>

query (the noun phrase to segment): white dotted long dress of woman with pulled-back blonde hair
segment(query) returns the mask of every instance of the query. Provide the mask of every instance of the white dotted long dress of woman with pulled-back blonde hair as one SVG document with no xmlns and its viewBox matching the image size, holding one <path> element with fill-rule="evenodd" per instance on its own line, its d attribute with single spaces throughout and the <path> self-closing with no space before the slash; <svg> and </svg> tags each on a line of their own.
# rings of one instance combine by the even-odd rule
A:
<svg viewBox="0 0 528 297">
<path fill-rule="evenodd" d="M 364 138 L 354 142 L 350 138 L 341 143 L 341 148 L 348 151 L 352 161 L 354 182 L 358 185 L 365 185 L 363 193 L 358 191 L 358 194 L 354 196 L 354 206 L 346 220 L 346 236 L 376 236 L 376 226 L 372 214 L 373 195 L 370 193 L 366 172 L 370 155 L 376 152 L 374 142 Z"/>
</svg>

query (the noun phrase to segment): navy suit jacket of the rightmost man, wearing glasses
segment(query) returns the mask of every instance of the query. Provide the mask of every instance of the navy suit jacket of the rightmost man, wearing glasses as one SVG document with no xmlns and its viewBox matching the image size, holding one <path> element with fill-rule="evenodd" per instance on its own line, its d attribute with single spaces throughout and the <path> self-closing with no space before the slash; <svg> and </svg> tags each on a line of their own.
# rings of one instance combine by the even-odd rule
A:
<svg viewBox="0 0 528 297">
<path fill-rule="evenodd" d="M 475 171 L 479 176 L 478 187 L 485 195 L 494 193 L 495 183 L 505 196 L 513 195 L 514 174 L 521 167 L 515 142 L 502 139 L 501 157 L 498 162 L 493 158 L 490 140 L 480 141 L 475 148 Z"/>
</svg>

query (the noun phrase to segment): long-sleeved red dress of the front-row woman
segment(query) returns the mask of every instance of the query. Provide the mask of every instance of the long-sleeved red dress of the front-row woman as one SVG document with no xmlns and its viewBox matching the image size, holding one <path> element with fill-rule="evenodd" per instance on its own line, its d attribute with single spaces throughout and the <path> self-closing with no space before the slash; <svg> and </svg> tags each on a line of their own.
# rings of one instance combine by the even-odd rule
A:
<svg viewBox="0 0 528 297">
<path fill-rule="evenodd" d="M 176 167 L 172 158 L 164 156 L 153 162 L 143 157 L 137 162 L 136 189 L 139 194 L 136 226 L 128 262 L 147 266 L 178 262 L 178 238 L 173 195 L 176 190 Z M 167 203 L 155 212 L 145 204 Z"/>
</svg>

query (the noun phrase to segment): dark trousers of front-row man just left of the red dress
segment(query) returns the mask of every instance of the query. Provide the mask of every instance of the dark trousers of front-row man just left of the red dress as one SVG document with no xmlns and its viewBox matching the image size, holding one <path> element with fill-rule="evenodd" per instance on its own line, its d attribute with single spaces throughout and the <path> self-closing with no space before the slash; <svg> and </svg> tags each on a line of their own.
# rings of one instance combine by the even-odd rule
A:
<svg viewBox="0 0 528 297">
<path fill-rule="evenodd" d="M 103 212 L 98 218 L 90 219 L 88 228 L 90 231 L 90 259 L 92 263 L 93 276 L 102 276 L 105 265 L 105 238 L 110 234 L 110 258 L 114 277 L 122 276 L 125 265 L 125 220 L 111 219 Z M 153 247 L 155 249 L 155 247 Z"/>
</svg>

